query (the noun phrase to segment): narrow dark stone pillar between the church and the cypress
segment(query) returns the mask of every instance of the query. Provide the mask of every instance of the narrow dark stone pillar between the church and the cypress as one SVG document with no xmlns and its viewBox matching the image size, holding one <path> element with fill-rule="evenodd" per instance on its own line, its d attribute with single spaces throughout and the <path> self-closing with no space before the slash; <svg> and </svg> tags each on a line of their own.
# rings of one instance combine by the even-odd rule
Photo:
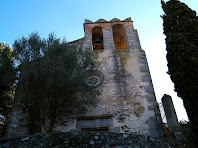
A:
<svg viewBox="0 0 198 148">
<path fill-rule="evenodd" d="M 174 132 L 179 128 L 179 123 L 171 96 L 164 94 L 162 97 L 162 105 L 164 107 L 166 119 L 168 122 L 168 129 L 170 132 Z"/>
</svg>

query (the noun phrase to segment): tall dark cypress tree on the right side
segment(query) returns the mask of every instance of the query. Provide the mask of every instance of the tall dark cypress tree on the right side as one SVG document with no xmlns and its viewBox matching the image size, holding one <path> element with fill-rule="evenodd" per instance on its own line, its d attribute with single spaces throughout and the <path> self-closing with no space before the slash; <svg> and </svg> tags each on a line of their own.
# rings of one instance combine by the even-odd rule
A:
<svg viewBox="0 0 198 148">
<path fill-rule="evenodd" d="M 198 131 L 198 17 L 195 11 L 178 0 L 161 3 L 168 74 L 175 84 L 175 91 L 184 101 L 194 130 Z"/>
</svg>

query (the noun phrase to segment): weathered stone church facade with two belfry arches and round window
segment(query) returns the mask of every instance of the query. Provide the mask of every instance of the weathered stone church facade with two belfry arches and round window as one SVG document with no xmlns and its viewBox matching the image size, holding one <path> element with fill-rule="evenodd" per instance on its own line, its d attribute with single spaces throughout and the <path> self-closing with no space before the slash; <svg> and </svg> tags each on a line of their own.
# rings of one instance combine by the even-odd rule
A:
<svg viewBox="0 0 198 148">
<path fill-rule="evenodd" d="M 163 136 L 163 123 L 146 55 L 131 18 L 123 21 L 117 18 L 96 22 L 85 20 L 84 32 L 84 38 L 70 43 L 82 44 L 92 50 L 101 63 L 99 69 L 88 72 L 87 84 L 102 93 L 96 107 L 90 108 L 82 117 L 69 119 L 67 126 L 57 126 L 56 130 Z M 21 115 L 16 110 L 11 113 L 8 136 L 26 134 Z"/>
</svg>

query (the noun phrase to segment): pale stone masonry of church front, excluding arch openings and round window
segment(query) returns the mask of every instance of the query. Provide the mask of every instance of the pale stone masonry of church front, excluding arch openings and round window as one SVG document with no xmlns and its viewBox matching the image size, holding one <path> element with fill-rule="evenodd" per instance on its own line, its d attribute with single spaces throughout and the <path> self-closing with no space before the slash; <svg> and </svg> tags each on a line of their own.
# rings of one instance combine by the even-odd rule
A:
<svg viewBox="0 0 198 148">
<path fill-rule="evenodd" d="M 125 28 L 126 49 L 115 49 L 112 28 L 117 24 Z M 93 50 L 92 30 L 98 26 L 102 29 L 104 49 Z M 108 131 L 110 132 L 163 136 L 163 125 L 146 55 L 141 49 L 138 33 L 133 27 L 131 18 L 124 21 L 115 18 L 109 22 L 104 19 L 96 22 L 85 20 L 84 31 L 84 48 L 93 50 L 94 57 L 97 57 L 101 63 L 98 71 L 104 74 L 104 81 L 97 86 L 102 91 L 98 97 L 100 102 L 85 115 L 87 118 L 84 120 L 84 124 L 82 120 L 79 121 L 82 126 L 85 123 L 90 127 L 102 126 L 98 122 L 102 122 L 104 119 L 93 122 L 88 118 L 103 118 L 104 115 L 111 115 L 113 124 L 104 124 L 109 126 Z M 76 124 L 77 129 L 82 129 L 79 122 L 75 120 L 70 124 L 73 129 L 60 126 L 58 130 L 74 130 Z M 110 123 L 110 119 L 106 122 Z"/>
</svg>

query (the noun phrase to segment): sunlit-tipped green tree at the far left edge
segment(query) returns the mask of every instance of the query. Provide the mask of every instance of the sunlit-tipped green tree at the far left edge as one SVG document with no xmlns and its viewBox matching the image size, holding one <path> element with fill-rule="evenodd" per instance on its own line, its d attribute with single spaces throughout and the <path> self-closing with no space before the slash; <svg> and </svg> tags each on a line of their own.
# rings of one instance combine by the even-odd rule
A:
<svg viewBox="0 0 198 148">
<path fill-rule="evenodd" d="M 13 66 L 12 49 L 5 42 L 0 43 L 0 137 L 5 127 L 13 100 L 16 69 Z"/>
</svg>

